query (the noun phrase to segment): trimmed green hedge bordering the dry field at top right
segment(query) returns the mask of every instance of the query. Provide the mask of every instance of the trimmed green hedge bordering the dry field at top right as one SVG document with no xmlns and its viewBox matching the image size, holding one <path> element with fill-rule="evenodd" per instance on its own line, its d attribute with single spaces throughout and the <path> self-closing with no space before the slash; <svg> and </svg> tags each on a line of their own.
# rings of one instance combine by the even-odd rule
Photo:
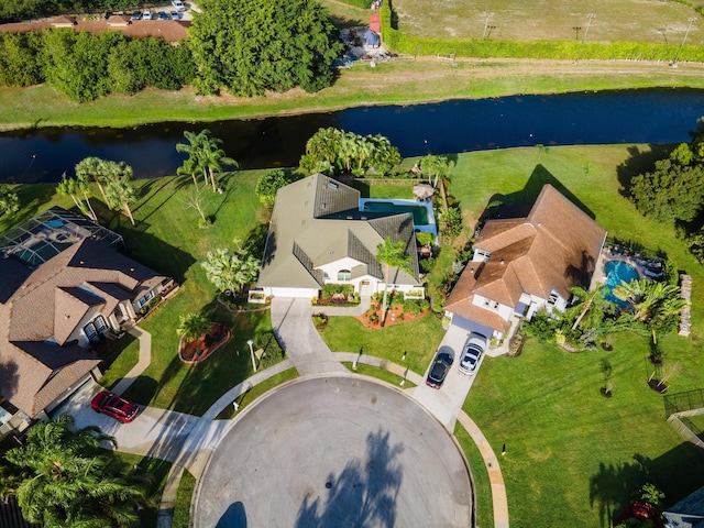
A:
<svg viewBox="0 0 704 528">
<path fill-rule="evenodd" d="M 391 50 L 410 55 L 450 55 L 455 57 L 553 58 L 602 61 L 673 61 L 680 46 L 641 42 L 612 42 L 609 44 L 575 41 L 480 41 L 476 38 L 430 38 L 411 36 L 391 25 L 392 11 L 384 6 L 382 35 Z M 681 62 L 703 63 L 704 46 L 684 46 Z"/>
</svg>

